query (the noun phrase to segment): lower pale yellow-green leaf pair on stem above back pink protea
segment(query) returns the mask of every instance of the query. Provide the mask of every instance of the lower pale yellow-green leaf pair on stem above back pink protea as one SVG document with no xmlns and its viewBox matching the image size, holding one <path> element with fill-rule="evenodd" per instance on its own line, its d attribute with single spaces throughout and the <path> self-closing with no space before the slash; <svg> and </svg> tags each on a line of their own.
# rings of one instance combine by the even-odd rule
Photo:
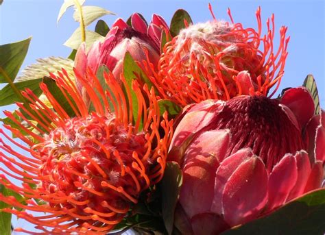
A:
<svg viewBox="0 0 325 235">
<path fill-rule="evenodd" d="M 81 30 L 80 27 L 75 29 L 75 32 L 71 35 L 71 37 L 64 42 L 64 46 L 70 47 L 71 49 L 77 50 L 82 44 L 82 36 L 81 36 Z M 97 34 L 96 32 L 86 30 L 86 47 L 90 47 L 93 45 L 93 43 L 97 40 L 104 40 L 104 37 L 101 36 L 100 34 Z"/>
</svg>

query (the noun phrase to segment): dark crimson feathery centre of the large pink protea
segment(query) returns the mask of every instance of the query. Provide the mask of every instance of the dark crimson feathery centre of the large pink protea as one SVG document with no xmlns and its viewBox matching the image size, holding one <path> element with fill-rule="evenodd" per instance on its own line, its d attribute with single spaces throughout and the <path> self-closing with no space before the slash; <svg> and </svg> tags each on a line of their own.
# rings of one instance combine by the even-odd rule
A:
<svg viewBox="0 0 325 235">
<path fill-rule="evenodd" d="M 263 95 L 235 97 L 226 102 L 213 129 L 230 129 L 227 156 L 250 147 L 271 172 L 285 153 L 304 149 L 300 129 L 288 116 L 291 112 L 279 103 Z"/>
</svg>

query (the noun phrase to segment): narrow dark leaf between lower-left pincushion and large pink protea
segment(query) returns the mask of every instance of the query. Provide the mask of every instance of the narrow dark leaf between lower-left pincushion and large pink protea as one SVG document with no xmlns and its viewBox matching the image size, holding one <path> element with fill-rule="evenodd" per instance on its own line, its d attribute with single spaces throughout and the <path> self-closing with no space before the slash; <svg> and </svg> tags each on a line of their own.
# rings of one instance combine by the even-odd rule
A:
<svg viewBox="0 0 325 235">
<path fill-rule="evenodd" d="M 160 186 L 162 192 L 163 219 L 168 234 L 172 234 L 174 212 L 182 186 L 182 171 L 177 162 L 167 162 Z"/>
</svg>

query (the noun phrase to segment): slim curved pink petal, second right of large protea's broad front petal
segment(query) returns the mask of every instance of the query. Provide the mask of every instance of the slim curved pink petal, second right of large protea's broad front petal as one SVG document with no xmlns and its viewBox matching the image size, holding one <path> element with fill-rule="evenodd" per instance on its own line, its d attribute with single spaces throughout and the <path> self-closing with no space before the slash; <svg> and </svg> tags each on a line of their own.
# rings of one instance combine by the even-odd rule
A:
<svg viewBox="0 0 325 235">
<path fill-rule="evenodd" d="M 298 177 L 296 185 L 292 188 L 287 201 L 299 197 L 304 193 L 304 188 L 311 173 L 311 162 L 308 153 L 299 151 L 296 153 L 295 158 L 297 162 Z"/>
</svg>

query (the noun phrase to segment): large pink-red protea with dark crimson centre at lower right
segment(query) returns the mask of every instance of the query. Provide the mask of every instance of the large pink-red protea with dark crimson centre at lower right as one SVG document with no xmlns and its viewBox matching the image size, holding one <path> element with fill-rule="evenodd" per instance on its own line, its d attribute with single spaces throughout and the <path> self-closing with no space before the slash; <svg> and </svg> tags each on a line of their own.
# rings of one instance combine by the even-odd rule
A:
<svg viewBox="0 0 325 235">
<path fill-rule="evenodd" d="M 176 227 L 219 234 L 320 188 L 325 115 L 313 114 L 313 99 L 302 87 L 280 100 L 241 95 L 187 107 L 168 158 L 183 173 Z"/>
</svg>

